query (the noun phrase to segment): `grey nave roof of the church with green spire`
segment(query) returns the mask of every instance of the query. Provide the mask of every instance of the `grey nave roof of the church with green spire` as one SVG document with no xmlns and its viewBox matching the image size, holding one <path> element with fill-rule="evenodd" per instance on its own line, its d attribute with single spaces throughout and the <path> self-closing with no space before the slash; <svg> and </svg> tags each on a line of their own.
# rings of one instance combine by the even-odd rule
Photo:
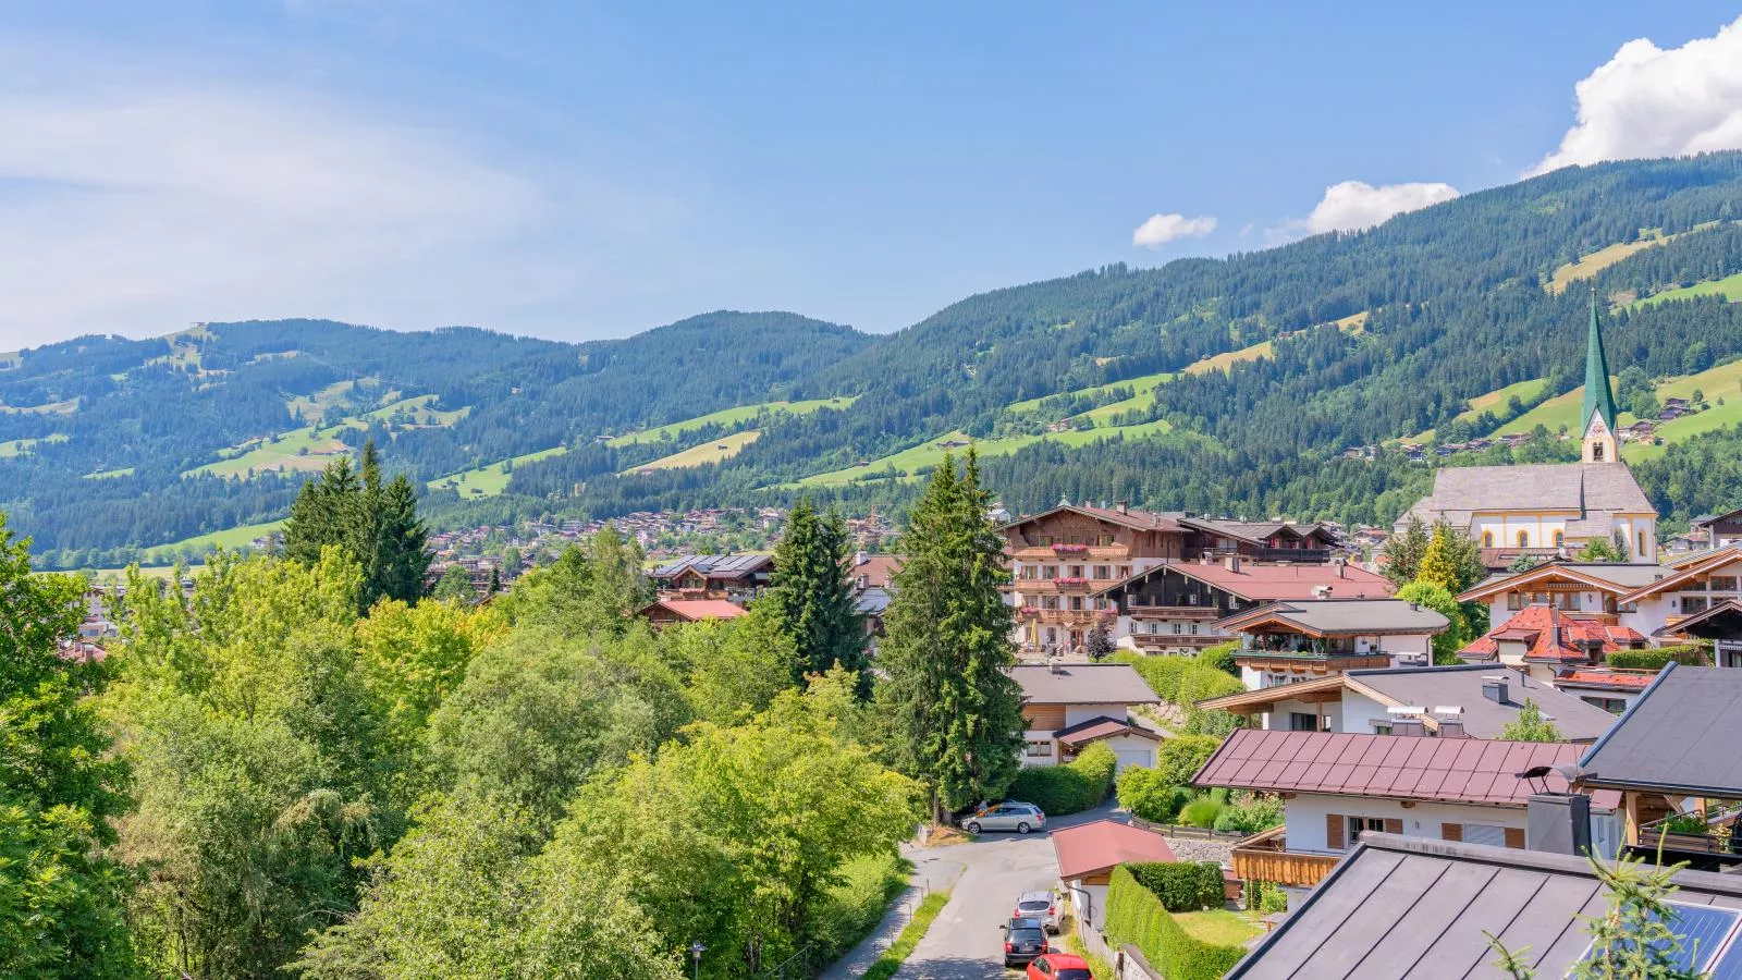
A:
<svg viewBox="0 0 1742 980">
<path fill-rule="evenodd" d="M 1578 511 L 1589 521 L 1613 513 L 1655 514 L 1657 507 L 1620 462 L 1455 466 L 1435 473 L 1434 492 L 1409 507 L 1427 523 L 1455 525 L 1488 511 Z"/>
</svg>

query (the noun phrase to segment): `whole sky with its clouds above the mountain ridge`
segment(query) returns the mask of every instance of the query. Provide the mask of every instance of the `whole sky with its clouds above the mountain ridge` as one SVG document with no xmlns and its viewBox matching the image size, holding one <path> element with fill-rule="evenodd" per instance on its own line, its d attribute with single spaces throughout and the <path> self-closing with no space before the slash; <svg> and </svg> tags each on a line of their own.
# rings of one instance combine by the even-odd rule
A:
<svg viewBox="0 0 1742 980">
<path fill-rule="evenodd" d="M 0 347 L 280 316 L 887 331 L 1545 160 L 1742 146 L 1733 0 L 557 7 L 10 3 Z"/>
</svg>

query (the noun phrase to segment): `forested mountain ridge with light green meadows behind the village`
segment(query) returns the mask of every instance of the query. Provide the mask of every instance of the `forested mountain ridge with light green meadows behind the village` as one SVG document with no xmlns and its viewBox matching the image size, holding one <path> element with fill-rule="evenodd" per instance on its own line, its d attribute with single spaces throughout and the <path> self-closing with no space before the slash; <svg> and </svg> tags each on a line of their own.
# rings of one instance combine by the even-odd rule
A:
<svg viewBox="0 0 1742 980">
<path fill-rule="evenodd" d="M 1570 391 L 1587 286 L 1617 371 L 1681 375 L 1695 344 L 1714 363 L 1742 354 L 1742 303 L 1676 289 L 1742 270 L 1739 220 L 1742 153 L 1711 153 L 1570 167 L 1219 260 L 1012 286 L 876 338 L 707 314 L 582 345 L 321 321 L 71 342 L 0 370 L 0 401 L 35 408 L 0 417 L 0 443 L 64 436 L 0 459 L 0 507 L 38 549 L 174 541 L 282 516 L 296 467 L 375 434 L 388 469 L 425 481 L 519 457 L 496 467 L 500 492 L 430 490 L 437 521 L 765 502 L 807 478 L 857 509 L 899 504 L 935 446 L 979 439 L 996 457 L 989 485 L 1019 509 L 1087 495 L 1388 521 L 1427 467 L 1340 453 L 1448 425 L 1517 382 Z M 606 441 L 833 396 L 718 415 L 678 441 Z M 732 432 L 746 434 L 719 462 L 638 469 Z M 287 452 L 303 455 L 284 466 Z M 240 473 L 211 476 L 219 453 Z"/>
</svg>

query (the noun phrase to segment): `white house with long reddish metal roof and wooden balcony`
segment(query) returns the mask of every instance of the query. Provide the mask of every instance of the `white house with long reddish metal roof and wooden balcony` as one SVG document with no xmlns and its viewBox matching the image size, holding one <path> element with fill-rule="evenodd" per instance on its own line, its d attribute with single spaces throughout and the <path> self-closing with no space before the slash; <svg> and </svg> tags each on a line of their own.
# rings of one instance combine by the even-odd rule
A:
<svg viewBox="0 0 1742 980">
<path fill-rule="evenodd" d="M 1554 767 L 1582 752 L 1568 743 L 1240 729 L 1192 785 L 1280 793 L 1282 827 L 1235 844 L 1233 874 L 1312 888 L 1369 832 L 1523 849 L 1529 797 L 1568 792 Z M 1528 779 L 1538 766 L 1549 772 Z M 1620 844 L 1618 802 L 1613 790 L 1590 800 L 1601 853 Z"/>
</svg>

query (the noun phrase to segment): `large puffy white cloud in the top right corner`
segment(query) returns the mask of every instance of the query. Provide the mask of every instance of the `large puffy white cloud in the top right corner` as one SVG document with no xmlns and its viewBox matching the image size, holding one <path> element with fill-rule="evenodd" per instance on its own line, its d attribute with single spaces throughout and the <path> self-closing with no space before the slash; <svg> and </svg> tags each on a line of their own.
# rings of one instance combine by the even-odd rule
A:
<svg viewBox="0 0 1742 980">
<path fill-rule="evenodd" d="M 1669 51 L 1631 40 L 1575 92 L 1578 124 L 1526 176 L 1570 164 L 1742 148 L 1742 17 Z"/>
</svg>

